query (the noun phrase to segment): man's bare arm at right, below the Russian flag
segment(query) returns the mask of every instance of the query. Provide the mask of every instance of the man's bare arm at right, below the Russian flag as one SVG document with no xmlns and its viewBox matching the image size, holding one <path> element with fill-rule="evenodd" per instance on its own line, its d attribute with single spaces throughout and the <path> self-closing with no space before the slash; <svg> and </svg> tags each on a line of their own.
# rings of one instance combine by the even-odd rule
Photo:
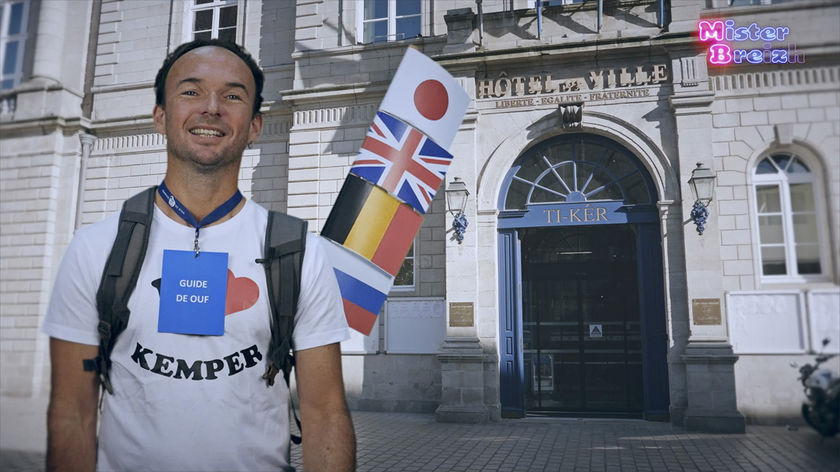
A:
<svg viewBox="0 0 840 472">
<path fill-rule="evenodd" d="M 344 396 L 341 350 L 329 344 L 295 353 L 307 471 L 345 472 L 356 468 L 356 435 Z"/>
</svg>

